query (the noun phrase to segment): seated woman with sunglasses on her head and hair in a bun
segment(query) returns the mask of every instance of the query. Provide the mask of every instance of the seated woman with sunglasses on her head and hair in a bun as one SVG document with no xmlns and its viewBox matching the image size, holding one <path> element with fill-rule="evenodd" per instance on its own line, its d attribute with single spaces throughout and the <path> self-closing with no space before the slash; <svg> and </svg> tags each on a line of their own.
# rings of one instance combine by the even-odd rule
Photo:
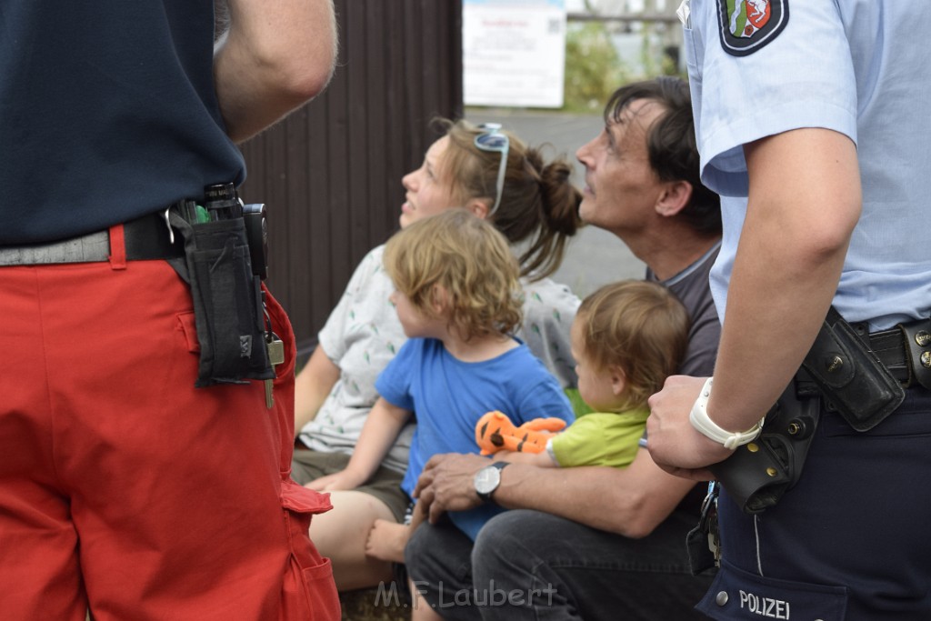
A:
<svg viewBox="0 0 931 621">
<path fill-rule="evenodd" d="M 545 163 L 540 152 L 498 125 L 440 121 L 445 135 L 427 150 L 419 169 L 402 180 L 404 228 L 429 215 L 463 207 L 492 222 L 517 253 L 524 289 L 524 322 L 517 333 L 574 389 L 569 331 L 579 299 L 549 278 L 560 266 L 568 237 L 581 225 L 581 195 L 569 181 L 566 159 Z M 394 292 L 382 264 L 384 246 L 359 263 L 343 298 L 318 334 L 318 346 L 295 386 L 298 445 L 292 476 L 300 483 L 343 470 L 378 398 L 375 379 L 405 341 L 388 298 Z M 312 536 L 331 558 L 340 590 L 371 587 L 392 577 L 391 563 L 365 553 L 375 520 L 403 520 L 409 499 L 400 490 L 412 425 L 401 433 L 382 467 L 355 490 L 331 492 L 333 509 L 315 518 Z"/>
</svg>

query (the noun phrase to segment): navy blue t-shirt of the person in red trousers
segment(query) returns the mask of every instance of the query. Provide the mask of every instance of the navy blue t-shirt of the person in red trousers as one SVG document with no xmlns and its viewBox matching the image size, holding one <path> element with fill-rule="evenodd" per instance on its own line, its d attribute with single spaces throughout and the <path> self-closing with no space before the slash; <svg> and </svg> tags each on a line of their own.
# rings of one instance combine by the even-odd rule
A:
<svg viewBox="0 0 931 621">
<path fill-rule="evenodd" d="M 0 245 L 101 230 L 242 182 L 211 0 L 3 0 Z"/>
</svg>

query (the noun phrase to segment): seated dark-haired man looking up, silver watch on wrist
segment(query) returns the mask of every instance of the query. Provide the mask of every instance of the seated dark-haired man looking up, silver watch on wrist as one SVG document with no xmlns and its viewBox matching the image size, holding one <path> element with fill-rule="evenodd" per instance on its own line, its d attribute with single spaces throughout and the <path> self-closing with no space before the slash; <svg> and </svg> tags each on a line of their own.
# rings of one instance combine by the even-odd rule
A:
<svg viewBox="0 0 931 621">
<path fill-rule="evenodd" d="M 681 299 L 692 320 L 681 372 L 710 372 L 720 324 L 708 270 L 721 238 L 718 196 L 698 180 L 687 85 L 618 89 L 605 127 L 578 151 L 583 220 L 611 231 Z M 684 541 L 702 491 L 655 466 L 645 441 L 626 468 L 490 465 L 440 455 L 416 493 L 429 507 L 407 547 L 413 585 L 449 619 L 687 619 L 709 584 Z M 473 542 L 442 516 L 481 502 L 511 509 Z"/>
</svg>

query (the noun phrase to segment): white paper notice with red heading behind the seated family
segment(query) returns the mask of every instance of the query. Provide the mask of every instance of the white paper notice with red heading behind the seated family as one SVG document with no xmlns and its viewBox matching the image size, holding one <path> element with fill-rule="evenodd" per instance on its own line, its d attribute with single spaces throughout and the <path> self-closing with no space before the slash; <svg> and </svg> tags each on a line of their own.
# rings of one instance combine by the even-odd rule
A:
<svg viewBox="0 0 931 621">
<path fill-rule="evenodd" d="M 466 105 L 562 107 L 565 0 L 464 0 Z"/>
</svg>

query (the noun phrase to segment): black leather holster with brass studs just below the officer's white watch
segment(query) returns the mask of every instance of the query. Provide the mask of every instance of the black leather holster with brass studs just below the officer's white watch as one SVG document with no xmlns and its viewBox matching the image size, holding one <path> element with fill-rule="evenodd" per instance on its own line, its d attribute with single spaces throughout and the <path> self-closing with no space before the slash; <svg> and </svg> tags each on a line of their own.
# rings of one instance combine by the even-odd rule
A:
<svg viewBox="0 0 931 621">
<path fill-rule="evenodd" d="M 796 381 L 776 401 L 763 423 L 760 437 L 737 447 L 733 455 L 709 469 L 746 513 L 775 506 L 802 475 L 811 444 L 820 400 L 800 396 Z"/>
</svg>

